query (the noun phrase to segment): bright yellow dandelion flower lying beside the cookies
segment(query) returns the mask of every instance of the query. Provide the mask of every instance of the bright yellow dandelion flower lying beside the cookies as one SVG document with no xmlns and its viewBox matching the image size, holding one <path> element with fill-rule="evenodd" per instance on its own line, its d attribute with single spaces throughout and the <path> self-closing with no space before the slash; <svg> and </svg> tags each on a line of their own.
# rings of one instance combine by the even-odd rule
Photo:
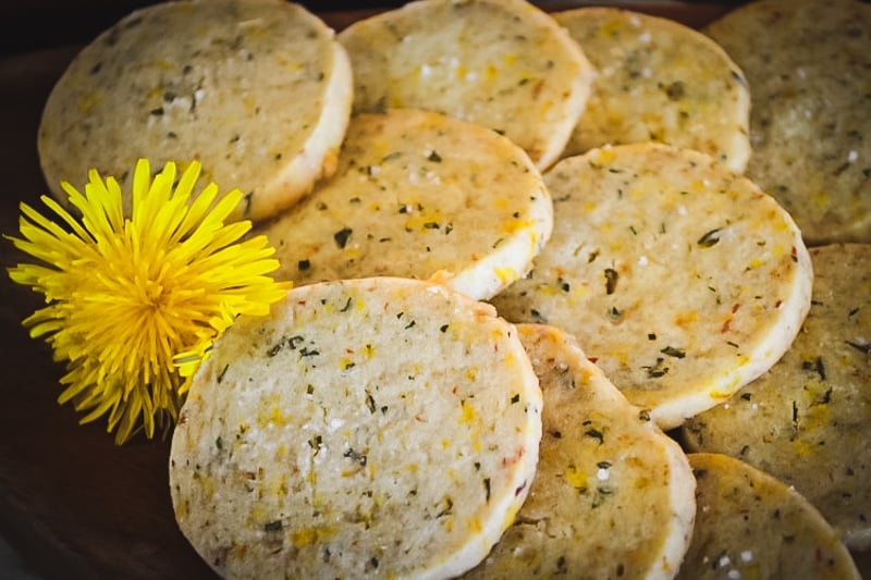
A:
<svg viewBox="0 0 871 580">
<path fill-rule="evenodd" d="M 9 275 L 45 295 L 24 325 L 66 362 L 59 403 L 83 423 L 108 416 L 119 445 L 169 429 L 212 342 L 237 316 L 268 313 L 289 287 L 269 275 L 279 263 L 267 238 L 243 239 L 248 221 L 224 223 L 238 189 L 193 195 L 200 169 L 189 163 L 176 183 L 174 163 L 151 178 L 139 160 L 130 215 L 118 182 L 91 170 L 84 195 L 61 184 L 77 212 L 44 196 L 59 221 L 22 203 L 21 237 L 5 236 L 41 262 Z"/>
</svg>

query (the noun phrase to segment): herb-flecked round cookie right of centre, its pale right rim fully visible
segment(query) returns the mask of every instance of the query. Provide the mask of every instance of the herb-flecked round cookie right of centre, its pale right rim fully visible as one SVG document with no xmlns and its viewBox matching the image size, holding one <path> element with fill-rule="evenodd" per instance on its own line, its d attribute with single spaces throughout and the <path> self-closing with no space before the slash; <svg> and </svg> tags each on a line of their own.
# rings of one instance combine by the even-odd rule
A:
<svg viewBox="0 0 871 580">
<path fill-rule="evenodd" d="M 727 399 L 789 347 L 810 307 L 810 258 L 750 181 L 653 143 L 564 159 L 544 181 L 551 240 L 493 304 L 574 334 L 660 427 Z"/>
</svg>

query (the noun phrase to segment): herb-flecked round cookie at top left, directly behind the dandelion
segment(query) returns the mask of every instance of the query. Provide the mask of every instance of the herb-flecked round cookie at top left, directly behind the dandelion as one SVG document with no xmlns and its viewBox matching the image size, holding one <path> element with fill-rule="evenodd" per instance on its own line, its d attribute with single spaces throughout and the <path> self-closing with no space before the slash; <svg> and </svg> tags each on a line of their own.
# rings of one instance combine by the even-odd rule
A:
<svg viewBox="0 0 871 580">
<path fill-rule="evenodd" d="M 207 180 L 246 194 L 240 215 L 262 219 L 332 172 L 352 91 L 344 49 L 300 5 L 155 4 L 85 47 L 54 86 L 39 126 L 42 171 L 65 200 L 60 182 L 89 168 L 123 185 L 138 158 L 197 159 Z"/>
</svg>

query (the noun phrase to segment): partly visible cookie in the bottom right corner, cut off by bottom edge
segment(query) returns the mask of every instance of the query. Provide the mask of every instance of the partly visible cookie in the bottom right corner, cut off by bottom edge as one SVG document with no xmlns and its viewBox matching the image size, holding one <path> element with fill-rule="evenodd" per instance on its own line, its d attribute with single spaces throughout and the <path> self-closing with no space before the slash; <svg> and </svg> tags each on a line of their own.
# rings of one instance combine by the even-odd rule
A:
<svg viewBox="0 0 871 580">
<path fill-rule="evenodd" d="M 847 548 L 798 492 L 725 455 L 690 454 L 697 518 L 678 579 L 859 580 Z"/>
</svg>

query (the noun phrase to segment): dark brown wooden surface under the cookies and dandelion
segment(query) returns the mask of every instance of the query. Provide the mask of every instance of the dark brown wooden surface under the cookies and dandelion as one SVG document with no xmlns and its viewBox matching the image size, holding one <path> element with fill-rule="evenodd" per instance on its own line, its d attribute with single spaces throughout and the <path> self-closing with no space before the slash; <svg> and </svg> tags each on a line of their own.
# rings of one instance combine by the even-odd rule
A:
<svg viewBox="0 0 871 580">
<path fill-rule="evenodd" d="M 631 5 L 692 26 L 726 10 L 723 3 Z M 323 16 L 341 28 L 368 13 Z M 77 49 L 0 57 L 2 234 L 17 233 L 20 201 L 34 205 L 47 192 L 36 152 L 37 125 L 49 90 Z M 73 409 L 57 404 L 63 368 L 21 325 L 40 307 L 40 296 L 5 274 L 21 259 L 9 240 L 0 239 L 0 536 L 45 578 L 211 578 L 172 514 L 169 442 L 134 439 L 116 447 L 103 420 L 78 425 Z M 867 562 L 863 567 L 871 569 Z"/>
</svg>

